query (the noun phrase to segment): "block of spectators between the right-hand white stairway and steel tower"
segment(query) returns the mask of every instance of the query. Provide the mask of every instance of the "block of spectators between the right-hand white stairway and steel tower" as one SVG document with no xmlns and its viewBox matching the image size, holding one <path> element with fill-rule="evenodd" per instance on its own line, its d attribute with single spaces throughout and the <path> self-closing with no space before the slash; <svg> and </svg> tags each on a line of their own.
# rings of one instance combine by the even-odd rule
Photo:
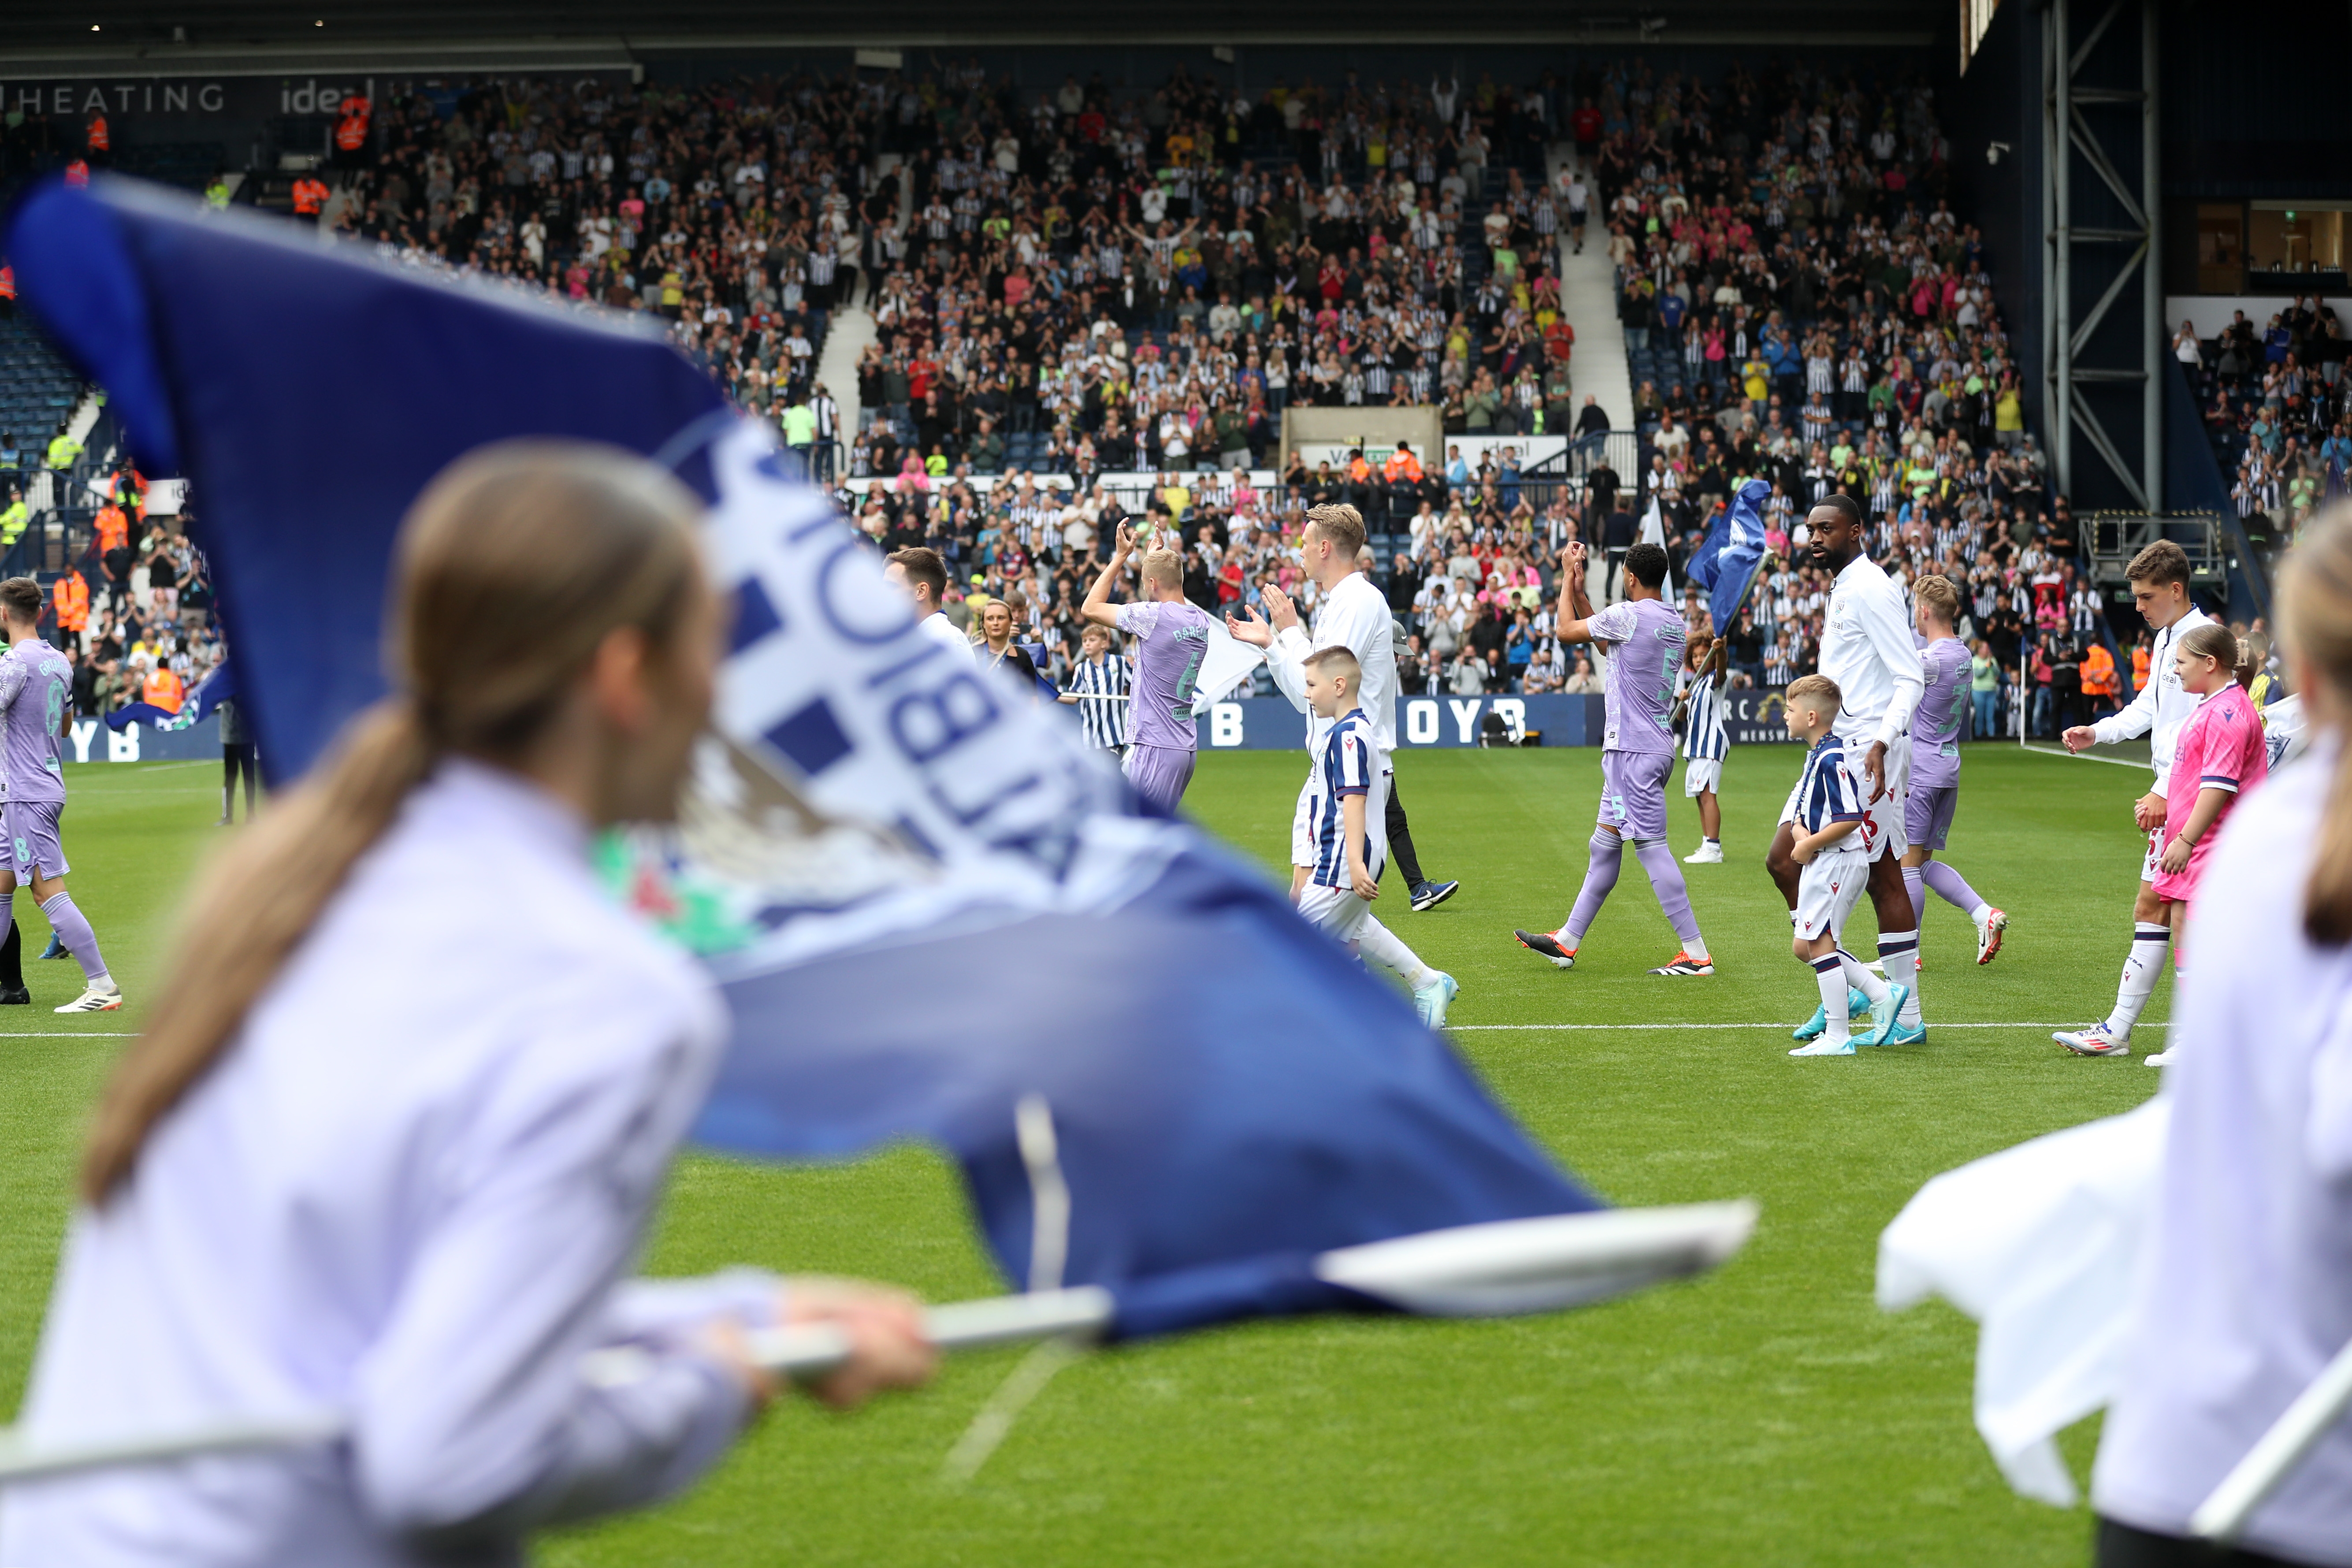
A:
<svg viewBox="0 0 2352 1568">
<path fill-rule="evenodd" d="M 1889 571 L 1959 585 L 2004 670 L 2020 651 L 2079 658 L 2100 604 L 2072 581 L 1992 259 L 1945 195 L 1933 89 L 1618 66 L 1576 129 L 1670 527 L 1696 538 L 1740 475 L 1771 480 L 1776 531 L 1842 489 Z M 1731 632 L 1750 679 L 1813 668 L 1825 583 L 1785 576 Z"/>
</svg>

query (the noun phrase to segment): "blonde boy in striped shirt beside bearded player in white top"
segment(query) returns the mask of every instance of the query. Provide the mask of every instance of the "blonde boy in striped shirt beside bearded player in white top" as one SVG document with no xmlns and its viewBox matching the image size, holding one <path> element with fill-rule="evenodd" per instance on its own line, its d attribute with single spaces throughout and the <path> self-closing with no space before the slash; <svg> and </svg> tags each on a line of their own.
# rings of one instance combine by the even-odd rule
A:
<svg viewBox="0 0 2352 1568">
<path fill-rule="evenodd" d="M 1806 743 L 1804 773 L 1797 778 L 1797 816 L 1790 858 L 1797 863 L 1797 936 L 1792 952 L 1813 969 L 1820 983 L 1820 1039 L 1797 1046 L 1790 1056 L 1853 1056 L 1856 1044 L 1886 1039 L 1903 1011 L 1907 987 L 1889 985 L 1839 947 L 1846 914 L 1870 886 L 1870 853 L 1860 844 L 1863 797 L 1846 766 L 1846 748 L 1835 733 L 1839 710 L 1837 682 L 1806 675 L 1788 689 L 1788 733 Z M 1870 1034 L 1853 1039 L 1849 990 L 1870 999 Z"/>
</svg>

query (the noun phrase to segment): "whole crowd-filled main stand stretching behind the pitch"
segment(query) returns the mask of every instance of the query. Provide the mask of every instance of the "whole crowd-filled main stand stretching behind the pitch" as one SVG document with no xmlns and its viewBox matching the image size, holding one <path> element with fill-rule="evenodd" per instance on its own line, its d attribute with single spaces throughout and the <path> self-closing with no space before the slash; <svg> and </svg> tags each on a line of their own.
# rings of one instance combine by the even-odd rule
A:
<svg viewBox="0 0 2352 1568">
<path fill-rule="evenodd" d="M 1736 473 L 1773 477 L 1799 562 L 1729 628 L 1738 679 L 1811 668 L 1825 585 L 1790 534 L 1828 489 L 1865 498 L 1903 576 L 1962 583 L 2004 670 L 2103 635 L 1992 256 L 1898 63 L 1700 80 L 1588 54 L 1571 80 L 1240 96 L 1181 66 L 1023 92 L 934 59 L 400 82 L 372 115 L 341 150 L 327 120 L 273 125 L 278 167 L 238 200 L 292 207 L 315 174 L 318 221 L 386 256 L 663 317 L 741 407 L 797 423 L 877 543 L 1014 599 L 1054 665 L 1120 520 L 1176 529 L 1188 592 L 1237 607 L 1298 588 L 1305 508 L 1350 501 L 1416 635 L 1411 686 L 1571 686 L 1559 548 L 1606 557 L 1656 501 L 1679 559 Z M 56 141 L 19 132 L 12 169 Z M 202 186 L 207 153 L 141 160 Z M 1576 430 L 1573 179 L 1637 388 L 1606 435 Z M 1312 407 L 1435 407 L 1470 456 L 1308 465 L 1282 433 Z"/>
</svg>

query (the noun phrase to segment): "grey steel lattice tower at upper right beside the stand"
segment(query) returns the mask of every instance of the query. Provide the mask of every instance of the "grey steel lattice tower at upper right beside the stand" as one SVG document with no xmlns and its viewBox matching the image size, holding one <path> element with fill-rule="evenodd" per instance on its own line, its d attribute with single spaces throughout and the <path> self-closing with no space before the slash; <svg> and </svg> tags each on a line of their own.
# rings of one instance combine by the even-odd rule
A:
<svg viewBox="0 0 2352 1568">
<path fill-rule="evenodd" d="M 2096 5 L 2096 0 L 2093 0 Z M 2089 7 L 2086 7 L 2089 9 Z M 2164 510 L 2164 280 L 2157 252 L 2157 214 L 2164 190 L 2157 179 L 2157 9 L 2159 0 L 2107 0 L 2098 21 L 2077 33 L 2074 0 L 2046 0 L 2042 12 L 2042 214 L 2046 249 L 2042 256 L 2042 355 L 2049 378 L 2051 465 L 2058 489 L 2074 491 L 2074 440 L 2114 473 L 2140 510 Z M 2131 63 L 2129 26 L 2138 12 L 2138 68 Z M 2124 24 L 2119 31 L 2117 24 Z M 2112 40 L 2110 40 L 2112 35 Z M 2107 45 L 2100 49 L 2100 45 Z M 2138 87 L 2091 85 L 2079 80 L 2084 66 L 2098 59 L 2096 75 L 2112 82 L 2136 75 Z M 2140 181 L 2138 193 L 2117 172 L 2107 146 L 2131 106 L 2140 110 Z M 2100 141 L 2091 118 L 2110 132 Z M 2119 223 L 2077 223 L 2077 176 L 2086 174 L 2105 188 Z M 2096 202 L 2105 207 L 2107 202 Z M 2074 310 L 2074 284 L 2098 289 L 2089 310 Z M 2117 303 L 2133 296 L 2140 329 L 2107 331 Z M 2129 315 L 2124 317 L 2129 322 Z M 2093 348 L 2096 341 L 2096 348 Z M 2129 425 L 2110 435 L 2093 400 L 2110 416 L 2122 414 L 2122 397 L 2100 388 L 2138 386 L 2140 440 L 2138 463 L 2131 461 Z M 2117 442 L 2126 437 L 2126 444 Z"/>
</svg>

